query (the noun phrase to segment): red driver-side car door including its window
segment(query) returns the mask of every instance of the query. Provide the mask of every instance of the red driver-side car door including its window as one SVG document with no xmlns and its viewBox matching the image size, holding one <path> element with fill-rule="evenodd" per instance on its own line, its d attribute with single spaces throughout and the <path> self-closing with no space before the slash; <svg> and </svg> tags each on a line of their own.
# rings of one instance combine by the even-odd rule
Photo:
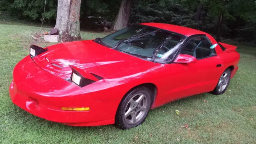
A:
<svg viewBox="0 0 256 144">
<path fill-rule="evenodd" d="M 197 59 L 196 63 L 169 64 L 168 101 L 212 91 L 221 69 L 222 60 L 211 50 L 211 42 L 205 35 L 193 36 L 184 44 L 179 54 L 188 54 Z"/>
</svg>

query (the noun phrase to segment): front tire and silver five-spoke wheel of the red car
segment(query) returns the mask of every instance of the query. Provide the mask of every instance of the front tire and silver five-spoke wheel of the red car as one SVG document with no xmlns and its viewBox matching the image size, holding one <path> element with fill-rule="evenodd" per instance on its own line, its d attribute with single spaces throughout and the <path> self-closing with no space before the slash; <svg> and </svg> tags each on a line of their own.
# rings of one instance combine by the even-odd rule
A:
<svg viewBox="0 0 256 144">
<path fill-rule="evenodd" d="M 131 90 L 130 92 L 128 92 L 124 96 L 124 98 L 122 99 L 122 101 L 120 102 L 120 104 L 118 106 L 118 110 L 116 112 L 116 117 L 115 117 L 116 126 L 122 130 L 126 130 L 126 129 L 130 129 L 130 128 L 133 128 L 133 127 L 136 127 L 136 126 L 142 124 L 144 122 L 144 120 L 146 119 L 148 112 L 150 110 L 151 104 L 152 104 L 151 95 L 152 95 L 151 91 L 146 87 L 138 87 L 138 88 L 135 88 L 134 90 Z M 143 98 L 140 98 L 140 96 L 143 96 Z M 136 100 L 136 98 L 138 98 L 138 99 Z M 142 100 L 139 102 L 139 99 L 142 99 Z M 138 103 L 135 103 L 137 101 L 138 101 Z M 134 103 L 132 103 L 132 102 L 134 102 Z M 136 106 L 137 110 L 136 110 L 136 107 L 134 107 L 134 105 L 132 105 L 132 104 L 138 104 L 138 106 Z M 143 106 L 143 111 L 142 111 L 141 106 Z M 133 112 L 130 109 L 132 109 Z M 130 110 L 130 112 L 132 114 L 128 115 L 128 113 L 129 113 L 128 110 Z M 126 116 L 125 116 L 125 114 L 126 114 Z M 133 120 L 136 120 L 136 118 L 139 117 L 139 119 L 137 119 L 138 121 L 133 121 L 132 115 L 135 116 L 135 117 L 133 117 L 134 118 Z M 130 117 L 131 117 L 131 120 L 129 123 L 128 119 Z"/>
</svg>

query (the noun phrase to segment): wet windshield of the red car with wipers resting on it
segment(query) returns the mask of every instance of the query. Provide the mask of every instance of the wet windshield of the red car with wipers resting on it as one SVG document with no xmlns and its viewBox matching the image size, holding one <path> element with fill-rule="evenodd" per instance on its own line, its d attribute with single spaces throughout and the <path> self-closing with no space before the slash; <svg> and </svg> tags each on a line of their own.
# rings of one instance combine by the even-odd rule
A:
<svg viewBox="0 0 256 144">
<path fill-rule="evenodd" d="M 101 41 L 116 50 L 135 56 L 152 58 L 155 52 L 156 59 L 170 60 L 185 38 L 186 36 L 174 32 L 135 25 L 110 34 Z"/>
</svg>

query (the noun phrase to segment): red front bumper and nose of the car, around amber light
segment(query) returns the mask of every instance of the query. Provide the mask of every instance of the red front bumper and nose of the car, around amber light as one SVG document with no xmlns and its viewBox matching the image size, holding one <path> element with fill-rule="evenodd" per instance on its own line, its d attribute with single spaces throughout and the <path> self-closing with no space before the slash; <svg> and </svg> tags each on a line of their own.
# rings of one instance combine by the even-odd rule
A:
<svg viewBox="0 0 256 144">
<path fill-rule="evenodd" d="M 96 101 L 79 86 L 40 69 L 28 57 L 15 66 L 13 75 L 9 88 L 12 102 L 35 116 L 72 126 L 114 124 L 120 100 Z M 90 107 L 90 111 L 61 107 Z"/>
</svg>

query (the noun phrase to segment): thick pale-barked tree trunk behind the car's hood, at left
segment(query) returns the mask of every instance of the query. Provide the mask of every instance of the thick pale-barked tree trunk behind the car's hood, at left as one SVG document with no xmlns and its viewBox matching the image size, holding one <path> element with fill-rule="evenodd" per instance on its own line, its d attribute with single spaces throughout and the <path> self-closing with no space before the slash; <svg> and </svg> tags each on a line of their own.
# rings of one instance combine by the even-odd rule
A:
<svg viewBox="0 0 256 144">
<path fill-rule="evenodd" d="M 80 4 L 81 0 L 58 0 L 55 28 L 64 42 L 81 40 Z"/>
</svg>

